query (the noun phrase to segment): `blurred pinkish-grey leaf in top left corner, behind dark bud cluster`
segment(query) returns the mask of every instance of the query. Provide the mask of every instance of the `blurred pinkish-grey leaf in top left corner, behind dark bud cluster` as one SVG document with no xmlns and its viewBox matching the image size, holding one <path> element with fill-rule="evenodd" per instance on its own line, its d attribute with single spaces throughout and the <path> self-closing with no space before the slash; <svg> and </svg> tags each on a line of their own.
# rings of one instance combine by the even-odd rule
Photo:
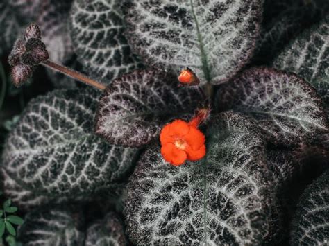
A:
<svg viewBox="0 0 329 246">
<path fill-rule="evenodd" d="M 72 0 L 10 0 L 11 8 L 22 19 L 22 27 L 31 22 L 40 26 L 42 41 L 55 62 L 65 62 L 73 55 L 68 29 L 71 3 Z"/>
</svg>

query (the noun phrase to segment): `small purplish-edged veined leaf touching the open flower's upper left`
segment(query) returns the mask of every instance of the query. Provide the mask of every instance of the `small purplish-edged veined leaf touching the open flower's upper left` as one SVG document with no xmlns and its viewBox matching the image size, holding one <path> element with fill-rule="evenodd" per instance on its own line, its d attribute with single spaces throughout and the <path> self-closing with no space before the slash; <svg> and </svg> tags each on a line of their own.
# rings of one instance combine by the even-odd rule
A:
<svg viewBox="0 0 329 246">
<path fill-rule="evenodd" d="M 170 117 L 194 112 L 202 100 L 198 89 L 178 88 L 176 76 L 158 70 L 134 71 L 104 91 L 96 134 L 110 143 L 142 146 L 158 136 Z"/>
</svg>

